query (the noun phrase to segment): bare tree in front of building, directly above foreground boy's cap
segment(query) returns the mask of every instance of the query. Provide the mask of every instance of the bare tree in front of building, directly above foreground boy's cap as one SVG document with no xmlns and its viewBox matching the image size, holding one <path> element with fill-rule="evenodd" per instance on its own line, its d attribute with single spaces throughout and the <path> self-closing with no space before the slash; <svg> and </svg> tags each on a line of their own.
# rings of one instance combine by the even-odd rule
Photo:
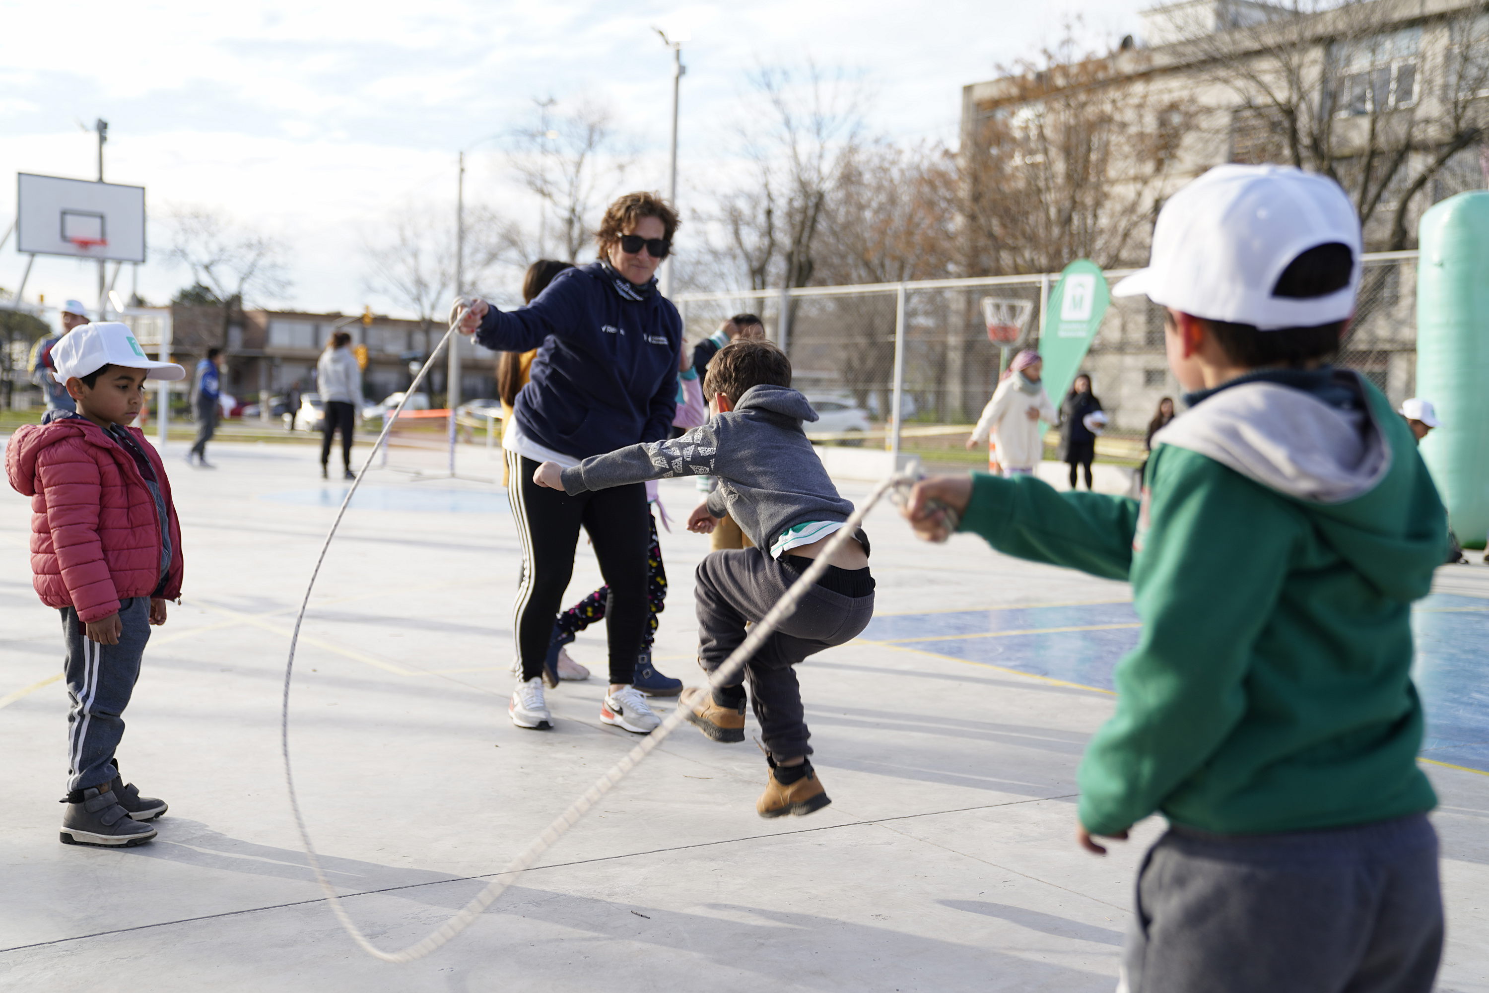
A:
<svg viewBox="0 0 1489 993">
<path fill-rule="evenodd" d="M 1409 247 L 1422 191 L 1489 130 L 1489 3 L 1434 7 L 1292 0 L 1191 42 L 1234 98 L 1231 158 L 1336 179 L 1373 247 Z"/>
</svg>

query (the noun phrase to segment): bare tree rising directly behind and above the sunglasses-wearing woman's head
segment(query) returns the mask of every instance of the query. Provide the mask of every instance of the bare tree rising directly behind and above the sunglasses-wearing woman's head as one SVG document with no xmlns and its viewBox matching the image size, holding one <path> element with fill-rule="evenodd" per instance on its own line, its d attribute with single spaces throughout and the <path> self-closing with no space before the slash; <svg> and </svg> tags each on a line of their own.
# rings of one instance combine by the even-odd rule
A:
<svg viewBox="0 0 1489 993">
<path fill-rule="evenodd" d="M 542 201 L 538 253 L 555 238 L 563 258 L 578 261 L 596 228 L 596 211 L 615 192 L 630 165 L 610 110 L 593 100 L 561 107 L 535 100 L 536 115 L 512 132 L 512 170 Z"/>
</svg>

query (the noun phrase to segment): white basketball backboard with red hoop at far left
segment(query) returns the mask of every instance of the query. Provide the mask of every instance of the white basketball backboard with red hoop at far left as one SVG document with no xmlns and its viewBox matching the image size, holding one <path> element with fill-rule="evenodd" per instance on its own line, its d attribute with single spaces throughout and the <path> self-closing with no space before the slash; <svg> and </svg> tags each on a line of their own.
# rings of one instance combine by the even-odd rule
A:
<svg viewBox="0 0 1489 993">
<path fill-rule="evenodd" d="M 16 174 L 16 249 L 144 262 L 144 188 Z"/>
</svg>

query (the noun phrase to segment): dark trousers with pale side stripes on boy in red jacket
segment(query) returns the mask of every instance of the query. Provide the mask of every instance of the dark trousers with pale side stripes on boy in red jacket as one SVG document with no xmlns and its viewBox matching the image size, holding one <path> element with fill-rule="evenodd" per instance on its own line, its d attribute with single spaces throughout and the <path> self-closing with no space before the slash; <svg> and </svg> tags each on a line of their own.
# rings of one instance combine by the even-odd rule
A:
<svg viewBox="0 0 1489 993">
<path fill-rule="evenodd" d="M 77 610 L 63 607 L 67 697 L 67 789 L 88 789 L 119 774 L 113 750 L 124 737 L 124 709 L 140 677 L 140 657 L 150 640 L 150 598 L 119 601 L 124 631 L 118 645 L 88 640 Z"/>
</svg>

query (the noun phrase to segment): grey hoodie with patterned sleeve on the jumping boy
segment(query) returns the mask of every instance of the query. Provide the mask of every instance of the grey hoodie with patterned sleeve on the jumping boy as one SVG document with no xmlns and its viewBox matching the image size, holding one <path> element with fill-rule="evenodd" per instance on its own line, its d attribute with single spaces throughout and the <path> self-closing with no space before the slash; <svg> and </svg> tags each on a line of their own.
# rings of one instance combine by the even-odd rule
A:
<svg viewBox="0 0 1489 993">
<path fill-rule="evenodd" d="M 709 475 L 709 514 L 728 514 L 756 548 L 807 521 L 846 521 L 853 505 L 838 496 L 801 430 L 817 420 L 807 397 L 786 386 L 756 386 L 734 409 L 680 438 L 591 456 L 563 470 L 570 496 L 646 479 Z"/>
</svg>

